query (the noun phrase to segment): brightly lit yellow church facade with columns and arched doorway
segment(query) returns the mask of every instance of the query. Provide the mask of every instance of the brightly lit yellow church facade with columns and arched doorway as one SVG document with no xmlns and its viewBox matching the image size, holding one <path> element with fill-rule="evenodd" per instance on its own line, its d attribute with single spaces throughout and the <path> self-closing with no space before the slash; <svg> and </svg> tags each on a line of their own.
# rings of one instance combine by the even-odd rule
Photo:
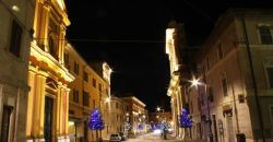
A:
<svg viewBox="0 0 273 142">
<path fill-rule="evenodd" d="M 69 83 L 74 76 L 63 66 L 66 27 L 63 0 L 37 0 L 31 44 L 26 137 L 32 142 L 69 141 Z"/>
</svg>

